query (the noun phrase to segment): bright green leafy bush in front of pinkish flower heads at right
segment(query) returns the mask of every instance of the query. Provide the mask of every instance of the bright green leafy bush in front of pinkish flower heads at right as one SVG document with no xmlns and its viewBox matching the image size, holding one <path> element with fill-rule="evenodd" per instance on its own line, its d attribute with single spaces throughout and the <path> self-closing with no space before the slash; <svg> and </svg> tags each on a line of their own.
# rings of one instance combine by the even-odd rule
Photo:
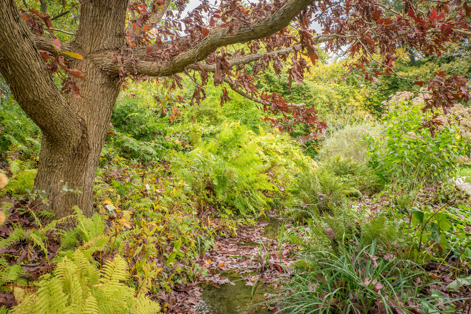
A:
<svg viewBox="0 0 471 314">
<path fill-rule="evenodd" d="M 368 145 L 368 161 L 378 175 L 416 181 L 446 181 L 455 175 L 455 161 L 469 152 L 467 134 L 447 123 L 432 132 L 424 128 L 430 116 L 421 107 L 393 102 L 378 133 L 365 133 L 361 142 Z"/>
</svg>

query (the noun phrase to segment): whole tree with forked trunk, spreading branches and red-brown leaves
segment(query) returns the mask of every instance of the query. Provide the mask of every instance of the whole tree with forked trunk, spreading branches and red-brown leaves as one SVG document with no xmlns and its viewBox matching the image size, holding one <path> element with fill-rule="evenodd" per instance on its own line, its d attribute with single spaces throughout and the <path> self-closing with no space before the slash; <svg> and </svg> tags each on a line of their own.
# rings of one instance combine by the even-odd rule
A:
<svg viewBox="0 0 471 314">
<path fill-rule="evenodd" d="M 59 217 L 73 205 L 91 215 L 87 191 L 114 102 L 129 80 L 157 78 L 171 90 L 186 74 L 195 81 L 194 105 L 206 97 L 212 75 L 221 86 L 221 105 L 230 100 L 227 88 L 233 89 L 265 112 L 282 113 L 265 117 L 279 130 L 308 125 L 305 137 L 326 127 L 316 111 L 276 93 L 260 93 L 254 83 L 268 67 L 280 75 L 282 62 L 288 62 L 291 90 L 315 66 L 320 48 L 349 56 L 345 73 L 366 81 L 393 73 L 411 88 L 426 86 L 430 97 L 423 111 L 447 113 L 470 96 L 464 74 L 440 70 L 424 81 L 401 76 L 393 66 L 399 49 L 441 56 L 450 43 L 466 40 L 471 7 L 461 0 L 203 0 L 183 16 L 185 6 L 184 0 L 0 0 L 0 72 L 43 132 L 35 187 L 52 199 L 60 191 L 58 182 L 85 191 L 53 201 Z"/>
</svg>

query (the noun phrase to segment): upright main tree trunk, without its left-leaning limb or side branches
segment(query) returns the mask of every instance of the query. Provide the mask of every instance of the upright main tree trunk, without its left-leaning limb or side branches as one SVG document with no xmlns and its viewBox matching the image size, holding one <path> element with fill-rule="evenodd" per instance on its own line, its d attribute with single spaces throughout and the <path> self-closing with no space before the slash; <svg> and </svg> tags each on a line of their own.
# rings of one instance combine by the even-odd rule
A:
<svg viewBox="0 0 471 314">
<path fill-rule="evenodd" d="M 106 5 L 103 3 L 106 2 Z M 85 80 L 75 79 L 81 90 L 81 98 L 72 93 L 65 99 L 83 123 L 81 145 L 64 154 L 60 147 L 52 147 L 43 137 L 39 155 L 35 189 L 46 191 L 54 219 L 73 213 L 77 205 L 86 217 L 93 215 L 93 186 L 106 138 L 114 103 L 120 91 L 119 76 L 109 75 L 96 64 L 103 50 L 118 50 L 126 47 L 124 18 L 126 0 L 84 1 L 81 7 L 81 23 L 71 50 L 83 59 L 70 60 L 69 68 L 84 68 L 88 71 Z M 81 194 L 65 192 L 81 189 Z"/>
</svg>

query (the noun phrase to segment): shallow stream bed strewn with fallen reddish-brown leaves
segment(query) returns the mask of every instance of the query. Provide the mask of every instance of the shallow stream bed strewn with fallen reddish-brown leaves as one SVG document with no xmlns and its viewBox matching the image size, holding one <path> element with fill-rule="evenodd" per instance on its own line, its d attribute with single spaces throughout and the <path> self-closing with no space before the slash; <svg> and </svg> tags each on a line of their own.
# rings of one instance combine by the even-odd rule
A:
<svg viewBox="0 0 471 314">
<path fill-rule="evenodd" d="M 468 185 L 469 190 L 465 188 Z M 471 193 L 470 184 L 462 188 Z M 380 208 L 379 204 L 368 198 L 361 203 L 371 210 L 370 217 Z M 299 254 L 294 254 L 300 249 L 296 244 L 282 243 L 281 250 L 278 247 L 279 228 L 291 226 L 289 219 L 279 216 L 274 212 L 255 226 L 239 227 L 235 236 L 219 236 L 215 246 L 196 260 L 208 271 L 208 276 L 180 285 L 179 291 L 173 290 L 171 294 L 161 292 L 155 297 L 168 303 L 168 313 L 175 314 L 270 313 L 265 301 L 283 284 L 283 279 L 290 278 L 289 266 L 300 258 Z M 455 298 L 470 298 L 471 288 L 460 290 L 459 295 L 448 291 L 447 284 L 453 282 L 450 266 L 455 266 L 454 262 L 427 267 L 430 277 L 439 280 L 430 285 L 430 289 L 454 295 Z"/>
</svg>

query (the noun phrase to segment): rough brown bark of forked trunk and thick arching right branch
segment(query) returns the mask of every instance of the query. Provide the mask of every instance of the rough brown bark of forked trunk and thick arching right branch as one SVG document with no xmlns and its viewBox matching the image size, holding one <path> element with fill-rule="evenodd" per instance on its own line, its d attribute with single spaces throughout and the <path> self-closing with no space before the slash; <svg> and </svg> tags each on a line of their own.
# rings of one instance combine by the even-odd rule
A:
<svg viewBox="0 0 471 314">
<path fill-rule="evenodd" d="M 153 76 L 182 72 L 221 46 L 279 31 L 310 2 L 288 0 L 272 16 L 253 24 L 252 29 L 243 26 L 237 35 L 227 34 L 227 29 L 218 30 L 167 64 L 141 59 L 136 68 L 139 73 Z M 128 0 L 82 2 L 75 39 L 62 46 L 83 56 L 82 60 L 69 60 L 69 68 L 88 71 L 85 80 L 76 80 L 83 97 L 74 98 L 72 93 L 61 95 L 38 52 L 54 52 L 52 40 L 29 32 L 14 0 L 0 0 L 0 72 L 18 104 L 43 132 L 34 188 L 47 193 L 56 219 L 70 215 L 74 205 L 88 217 L 93 214 L 94 178 L 120 90 L 120 64 L 113 64 L 113 55 L 129 49 L 125 34 L 127 3 Z M 154 17 L 162 17 L 160 13 Z M 143 51 L 135 48 L 134 55 L 142 56 Z M 131 65 L 127 67 L 133 71 Z M 62 193 L 65 182 L 69 188 L 81 188 L 83 193 Z"/>
</svg>

